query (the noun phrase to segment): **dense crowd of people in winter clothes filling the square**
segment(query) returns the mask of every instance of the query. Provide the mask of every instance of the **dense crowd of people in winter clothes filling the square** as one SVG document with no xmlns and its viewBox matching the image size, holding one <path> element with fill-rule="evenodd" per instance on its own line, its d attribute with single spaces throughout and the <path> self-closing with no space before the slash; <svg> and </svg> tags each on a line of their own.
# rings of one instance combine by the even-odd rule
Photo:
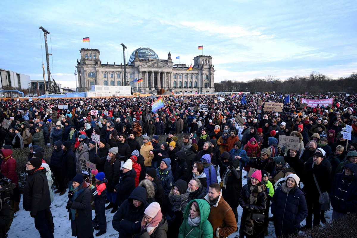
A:
<svg viewBox="0 0 357 238">
<path fill-rule="evenodd" d="M 333 105 L 300 106 L 302 97 L 326 96 Z M 284 97 L 169 96 L 154 112 L 147 97 L 1 101 L 0 122 L 9 125 L 0 127 L 0 172 L 16 183 L 2 206 L 19 211 L 12 153 L 29 147 L 23 207 L 41 237 L 55 232 L 52 186 L 68 196 L 72 236 L 81 238 L 106 233 L 108 209 L 120 238 L 219 238 L 236 231 L 265 237 L 269 221 L 276 236 L 287 237 L 326 223 L 330 203 L 319 202 L 326 192 L 332 219 L 356 213 L 357 96 L 294 95 L 286 103 Z M 265 111 L 265 102 L 284 106 Z M 352 126 L 350 141 L 343 138 L 346 125 Z M 298 149 L 279 147 L 282 135 L 298 137 Z M 50 158 L 44 157 L 47 146 L 53 147 Z M 82 173 L 82 158 L 96 166 L 90 176 Z"/>
</svg>

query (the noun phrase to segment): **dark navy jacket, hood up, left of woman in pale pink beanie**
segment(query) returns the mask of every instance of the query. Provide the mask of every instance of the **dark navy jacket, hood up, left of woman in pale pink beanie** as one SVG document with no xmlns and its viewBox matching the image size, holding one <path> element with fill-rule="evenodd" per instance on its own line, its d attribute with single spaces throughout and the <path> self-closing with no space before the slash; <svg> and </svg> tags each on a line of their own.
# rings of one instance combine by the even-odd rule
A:
<svg viewBox="0 0 357 238">
<path fill-rule="evenodd" d="M 132 235 L 140 232 L 141 220 L 144 217 L 146 207 L 146 189 L 137 187 L 132 191 L 115 213 L 112 221 L 113 228 L 119 232 L 119 238 L 131 238 Z M 139 207 L 135 207 L 133 199 L 142 202 Z M 139 222 L 137 222 L 139 221 Z"/>
</svg>

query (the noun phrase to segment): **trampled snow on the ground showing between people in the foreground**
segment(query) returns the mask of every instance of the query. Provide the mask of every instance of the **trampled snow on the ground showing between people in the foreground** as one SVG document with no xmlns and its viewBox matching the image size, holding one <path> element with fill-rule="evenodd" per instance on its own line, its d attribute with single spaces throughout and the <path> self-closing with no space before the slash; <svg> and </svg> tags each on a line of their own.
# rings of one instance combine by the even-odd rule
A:
<svg viewBox="0 0 357 238">
<path fill-rule="evenodd" d="M 243 171 L 243 176 L 246 175 L 246 172 Z M 218 178 L 219 179 L 219 178 Z M 242 178 L 243 185 L 247 183 L 247 180 Z M 51 204 L 51 212 L 53 215 L 53 221 L 55 223 L 55 238 L 67 238 L 71 237 L 71 222 L 68 219 L 68 212 L 66 207 L 68 201 L 67 193 L 62 196 L 59 196 L 59 193 L 54 194 L 54 202 Z M 9 238 L 24 238 L 24 237 L 40 237 L 40 234 L 35 228 L 34 218 L 30 217 L 30 212 L 22 209 L 22 195 L 20 202 L 20 211 L 16 212 L 14 221 L 12 222 L 10 231 L 7 233 Z M 100 236 L 101 238 L 109 238 L 109 237 L 118 237 L 119 233 L 115 231 L 112 227 L 111 221 L 113 219 L 114 214 L 110 213 L 110 210 L 106 210 L 106 218 L 107 218 L 107 233 Z M 238 228 L 240 226 L 240 219 L 242 214 L 242 208 L 238 207 Z M 92 218 L 94 218 L 95 212 L 92 211 Z M 272 215 L 270 214 L 270 217 Z M 332 208 L 325 213 L 326 221 L 331 221 L 332 217 Z M 322 223 L 321 223 L 322 224 Z M 301 226 L 305 225 L 305 220 L 301 223 Z M 98 231 L 94 231 L 94 234 Z M 273 226 L 273 222 L 269 222 L 268 227 L 269 235 L 267 238 L 275 238 L 275 229 Z M 96 236 L 94 236 L 96 237 Z M 229 238 L 239 237 L 238 232 L 235 232 L 229 236 Z"/>
</svg>

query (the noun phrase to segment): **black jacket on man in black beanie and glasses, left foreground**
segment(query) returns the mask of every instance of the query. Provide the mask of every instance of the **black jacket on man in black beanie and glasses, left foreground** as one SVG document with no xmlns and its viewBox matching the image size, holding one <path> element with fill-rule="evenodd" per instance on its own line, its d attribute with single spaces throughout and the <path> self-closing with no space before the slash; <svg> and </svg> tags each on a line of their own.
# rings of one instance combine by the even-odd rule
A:
<svg viewBox="0 0 357 238">
<path fill-rule="evenodd" d="M 31 212 L 31 216 L 35 216 L 38 211 L 45 210 L 51 205 L 46 172 L 42 167 L 27 171 L 29 178 L 24 187 L 23 201 L 24 209 Z"/>
</svg>

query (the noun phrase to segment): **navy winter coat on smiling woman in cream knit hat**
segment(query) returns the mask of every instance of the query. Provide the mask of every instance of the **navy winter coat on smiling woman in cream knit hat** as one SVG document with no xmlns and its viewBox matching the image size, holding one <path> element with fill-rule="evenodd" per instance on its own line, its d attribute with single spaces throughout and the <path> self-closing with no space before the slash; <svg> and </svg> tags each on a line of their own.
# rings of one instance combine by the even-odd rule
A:
<svg viewBox="0 0 357 238">
<path fill-rule="evenodd" d="M 307 217 L 305 192 L 296 187 L 287 194 L 282 191 L 281 187 L 278 187 L 271 201 L 271 213 L 274 214 L 277 237 L 282 234 L 298 232 L 300 222 Z"/>
</svg>

